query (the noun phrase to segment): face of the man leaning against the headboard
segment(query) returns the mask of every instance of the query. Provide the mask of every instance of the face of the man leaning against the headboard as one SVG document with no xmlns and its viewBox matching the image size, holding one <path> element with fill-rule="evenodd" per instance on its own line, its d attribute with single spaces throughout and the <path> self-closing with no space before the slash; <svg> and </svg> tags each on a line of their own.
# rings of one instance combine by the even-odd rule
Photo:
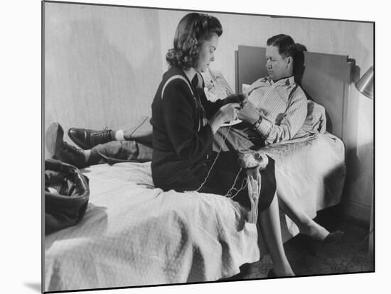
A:
<svg viewBox="0 0 391 294">
<path fill-rule="evenodd" d="M 288 77 L 290 75 L 289 58 L 279 55 L 277 46 L 266 46 L 266 68 L 269 77 L 274 81 Z"/>
</svg>

